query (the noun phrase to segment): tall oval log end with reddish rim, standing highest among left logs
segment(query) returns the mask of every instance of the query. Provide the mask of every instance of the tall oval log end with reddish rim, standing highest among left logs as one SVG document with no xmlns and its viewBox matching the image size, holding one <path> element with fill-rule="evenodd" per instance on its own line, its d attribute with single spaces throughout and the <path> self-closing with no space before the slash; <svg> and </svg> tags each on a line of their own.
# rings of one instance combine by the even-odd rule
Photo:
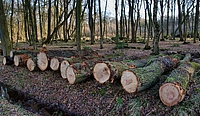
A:
<svg viewBox="0 0 200 116">
<path fill-rule="evenodd" d="M 37 53 L 37 66 L 41 71 L 48 68 L 49 60 L 45 52 Z"/>
</svg>

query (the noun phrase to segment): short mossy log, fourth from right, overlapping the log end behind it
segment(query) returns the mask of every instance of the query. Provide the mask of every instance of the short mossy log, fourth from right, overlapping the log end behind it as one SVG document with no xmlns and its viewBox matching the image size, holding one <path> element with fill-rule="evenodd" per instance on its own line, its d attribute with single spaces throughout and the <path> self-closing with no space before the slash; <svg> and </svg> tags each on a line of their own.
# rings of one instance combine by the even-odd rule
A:
<svg viewBox="0 0 200 116">
<path fill-rule="evenodd" d="M 67 67 L 66 77 L 70 84 L 76 84 L 91 76 L 91 69 L 85 63 L 75 63 Z"/>
</svg>

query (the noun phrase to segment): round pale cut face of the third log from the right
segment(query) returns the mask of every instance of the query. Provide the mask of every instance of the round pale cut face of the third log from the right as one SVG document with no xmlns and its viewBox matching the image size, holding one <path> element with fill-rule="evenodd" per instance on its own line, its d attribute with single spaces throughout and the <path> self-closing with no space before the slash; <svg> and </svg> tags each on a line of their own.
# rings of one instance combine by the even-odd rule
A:
<svg viewBox="0 0 200 116">
<path fill-rule="evenodd" d="M 99 83 L 104 83 L 110 78 L 110 69 L 105 63 L 97 63 L 93 69 L 93 76 Z"/>
</svg>

